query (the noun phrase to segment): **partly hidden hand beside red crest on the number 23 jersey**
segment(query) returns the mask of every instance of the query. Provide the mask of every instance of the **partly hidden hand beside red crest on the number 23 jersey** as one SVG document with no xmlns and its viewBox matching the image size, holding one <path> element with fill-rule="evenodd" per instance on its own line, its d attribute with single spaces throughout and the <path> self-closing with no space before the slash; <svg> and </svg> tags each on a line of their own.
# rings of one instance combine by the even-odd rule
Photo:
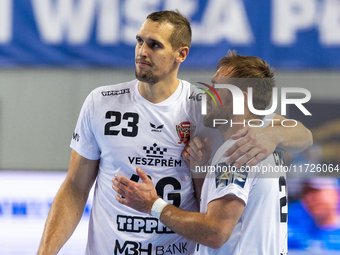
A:
<svg viewBox="0 0 340 255">
<path fill-rule="evenodd" d="M 205 165 L 210 159 L 212 152 L 211 142 L 208 138 L 204 141 L 198 136 L 189 140 L 182 151 L 182 157 L 190 167 L 194 169 L 196 166 Z"/>
</svg>

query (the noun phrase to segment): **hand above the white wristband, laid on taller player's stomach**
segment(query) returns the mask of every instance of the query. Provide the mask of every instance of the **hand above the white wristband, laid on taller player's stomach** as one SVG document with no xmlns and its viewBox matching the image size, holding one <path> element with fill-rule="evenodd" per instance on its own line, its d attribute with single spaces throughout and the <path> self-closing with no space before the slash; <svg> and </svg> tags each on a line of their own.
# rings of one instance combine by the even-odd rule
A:
<svg viewBox="0 0 340 255">
<path fill-rule="evenodd" d="M 118 193 L 115 198 L 119 203 L 137 211 L 150 214 L 153 203 L 159 197 L 146 173 L 139 167 L 136 168 L 136 172 L 141 178 L 142 183 L 131 181 L 124 176 L 116 174 L 112 179 L 112 189 Z"/>
</svg>

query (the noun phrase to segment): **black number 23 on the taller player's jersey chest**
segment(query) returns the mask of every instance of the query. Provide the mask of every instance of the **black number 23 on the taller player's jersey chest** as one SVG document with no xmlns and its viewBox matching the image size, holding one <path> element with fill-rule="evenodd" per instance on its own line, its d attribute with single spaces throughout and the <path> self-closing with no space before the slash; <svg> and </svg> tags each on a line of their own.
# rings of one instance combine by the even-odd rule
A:
<svg viewBox="0 0 340 255">
<path fill-rule="evenodd" d="M 128 136 L 128 137 L 135 137 L 138 134 L 138 121 L 139 121 L 139 115 L 135 112 L 126 112 L 123 114 L 123 118 L 122 118 L 122 114 L 120 112 L 116 112 L 116 111 L 108 111 L 105 114 L 105 119 L 112 119 L 112 117 L 114 117 L 114 121 L 110 121 L 108 123 L 106 123 L 105 125 L 105 131 L 104 131 L 104 135 L 118 135 L 120 130 L 115 130 L 115 129 L 111 129 L 112 127 L 116 127 L 119 126 L 122 119 L 123 120 L 131 120 L 127 123 L 128 128 L 122 128 L 122 135 L 123 136 Z"/>
</svg>

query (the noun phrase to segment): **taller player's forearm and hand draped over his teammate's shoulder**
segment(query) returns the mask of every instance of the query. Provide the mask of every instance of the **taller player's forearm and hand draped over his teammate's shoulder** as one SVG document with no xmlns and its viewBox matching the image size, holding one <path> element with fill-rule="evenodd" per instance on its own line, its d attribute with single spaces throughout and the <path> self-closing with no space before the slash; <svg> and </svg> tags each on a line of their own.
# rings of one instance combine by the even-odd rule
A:
<svg viewBox="0 0 340 255">
<path fill-rule="evenodd" d="M 243 155 L 235 163 L 235 167 L 240 167 L 251 159 L 247 165 L 254 166 L 271 154 L 276 147 L 297 153 L 313 144 L 312 133 L 301 122 L 295 127 L 282 127 L 279 123 L 285 118 L 276 114 L 274 119 L 279 120 L 273 122 L 274 127 L 271 125 L 266 128 L 245 127 L 231 136 L 233 139 L 242 138 L 226 151 L 226 156 L 230 156 L 227 164 L 232 164 Z"/>
</svg>

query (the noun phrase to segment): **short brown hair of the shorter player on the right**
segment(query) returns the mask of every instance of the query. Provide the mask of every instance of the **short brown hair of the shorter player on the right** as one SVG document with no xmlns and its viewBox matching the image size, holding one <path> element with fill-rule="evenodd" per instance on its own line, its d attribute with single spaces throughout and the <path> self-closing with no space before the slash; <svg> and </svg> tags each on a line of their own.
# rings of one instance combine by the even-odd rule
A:
<svg viewBox="0 0 340 255">
<path fill-rule="evenodd" d="M 227 56 L 221 58 L 218 62 L 217 70 L 222 66 L 230 68 L 228 78 L 237 78 L 234 85 L 242 91 L 247 91 L 248 87 L 253 88 L 255 109 L 266 109 L 272 98 L 273 87 L 275 87 L 274 70 L 266 61 L 259 57 L 241 56 L 236 51 L 228 51 Z M 247 80 L 242 78 L 260 79 Z"/>
</svg>

